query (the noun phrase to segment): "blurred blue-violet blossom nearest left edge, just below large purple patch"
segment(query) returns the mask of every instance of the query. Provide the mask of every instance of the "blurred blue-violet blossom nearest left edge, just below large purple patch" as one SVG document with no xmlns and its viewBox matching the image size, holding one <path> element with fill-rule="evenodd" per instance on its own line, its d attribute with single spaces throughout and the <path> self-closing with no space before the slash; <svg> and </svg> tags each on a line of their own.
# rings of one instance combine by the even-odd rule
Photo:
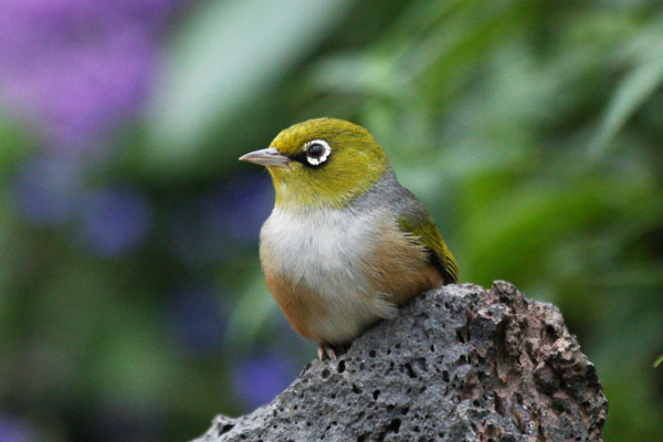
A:
<svg viewBox="0 0 663 442">
<path fill-rule="evenodd" d="M 80 173 L 71 161 L 33 158 L 19 170 L 15 196 L 25 219 L 38 225 L 66 221 L 77 208 Z"/>
</svg>

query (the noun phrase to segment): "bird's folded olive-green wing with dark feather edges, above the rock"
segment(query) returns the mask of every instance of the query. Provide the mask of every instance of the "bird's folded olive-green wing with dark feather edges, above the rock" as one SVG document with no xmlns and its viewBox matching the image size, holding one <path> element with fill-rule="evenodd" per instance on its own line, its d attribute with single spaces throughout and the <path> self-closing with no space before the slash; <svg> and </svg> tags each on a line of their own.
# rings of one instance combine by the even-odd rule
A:
<svg viewBox="0 0 663 442">
<path fill-rule="evenodd" d="M 459 267 L 435 222 L 421 204 L 418 203 L 415 209 L 418 210 L 410 210 L 399 215 L 400 230 L 411 234 L 414 241 L 429 251 L 431 264 L 442 273 L 444 284 L 457 282 Z"/>
</svg>

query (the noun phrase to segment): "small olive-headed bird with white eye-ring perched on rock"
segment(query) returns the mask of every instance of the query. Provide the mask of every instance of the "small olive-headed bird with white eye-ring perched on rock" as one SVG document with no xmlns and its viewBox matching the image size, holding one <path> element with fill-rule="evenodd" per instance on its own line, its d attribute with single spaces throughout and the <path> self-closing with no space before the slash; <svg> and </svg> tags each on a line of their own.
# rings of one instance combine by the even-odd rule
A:
<svg viewBox="0 0 663 442">
<path fill-rule="evenodd" d="M 267 288 L 299 335 L 336 351 L 457 266 L 431 215 L 364 127 L 316 118 L 240 158 L 267 168 L 276 193 L 260 233 Z"/>
</svg>

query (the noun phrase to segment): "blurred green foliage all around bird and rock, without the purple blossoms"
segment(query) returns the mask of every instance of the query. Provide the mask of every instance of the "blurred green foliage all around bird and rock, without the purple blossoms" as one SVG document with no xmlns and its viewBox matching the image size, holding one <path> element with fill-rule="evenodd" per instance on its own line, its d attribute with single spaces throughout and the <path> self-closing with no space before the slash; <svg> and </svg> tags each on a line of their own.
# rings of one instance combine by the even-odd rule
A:
<svg viewBox="0 0 663 442">
<path fill-rule="evenodd" d="M 133 417 L 160 417 L 166 436 L 143 439 L 180 441 L 217 412 L 246 411 L 232 377 L 244 356 L 312 358 L 266 293 L 257 238 L 209 251 L 203 232 L 182 257 L 171 224 L 212 186 L 250 173 L 240 155 L 329 116 L 386 149 L 461 282 L 508 280 L 561 308 L 610 401 L 606 440 L 657 440 L 662 35 L 660 4 L 644 0 L 192 6 L 173 25 L 147 117 L 85 177 L 148 194 L 154 228 L 138 250 L 94 256 L 75 224 L 25 223 L 10 178 L 32 146 L 0 125 L 2 404 L 30 409 L 44 440 L 62 441 L 74 438 L 62 415 L 94 421 L 105 403 L 130 403 Z M 266 173 L 251 182 L 270 186 Z M 165 325 L 172 287 L 191 281 L 215 287 L 228 317 L 210 352 Z"/>
</svg>

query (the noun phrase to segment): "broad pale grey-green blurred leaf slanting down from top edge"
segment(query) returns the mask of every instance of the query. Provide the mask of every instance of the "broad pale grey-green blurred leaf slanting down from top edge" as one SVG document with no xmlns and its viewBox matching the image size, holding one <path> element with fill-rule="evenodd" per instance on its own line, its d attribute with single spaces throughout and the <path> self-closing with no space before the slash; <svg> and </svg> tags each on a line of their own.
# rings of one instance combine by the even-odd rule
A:
<svg viewBox="0 0 663 442">
<path fill-rule="evenodd" d="M 264 96 L 346 9 L 345 0 L 314 7 L 304 0 L 251 0 L 209 2 L 193 11 L 177 33 L 157 91 L 146 161 L 161 169 L 194 168 L 207 134 Z"/>
</svg>

